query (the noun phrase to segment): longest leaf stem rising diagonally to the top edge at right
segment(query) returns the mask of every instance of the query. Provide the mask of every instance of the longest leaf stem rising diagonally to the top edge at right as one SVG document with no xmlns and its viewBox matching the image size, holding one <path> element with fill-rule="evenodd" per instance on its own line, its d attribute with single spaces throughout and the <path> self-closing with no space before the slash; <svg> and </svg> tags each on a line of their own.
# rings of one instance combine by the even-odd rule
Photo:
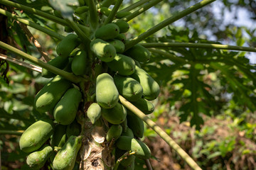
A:
<svg viewBox="0 0 256 170">
<path fill-rule="evenodd" d="M 159 23 L 156 26 L 147 30 L 145 33 L 142 33 L 141 35 L 139 35 L 136 38 L 132 39 L 131 41 L 127 42 L 125 45 L 124 51 L 128 50 L 130 47 L 132 47 L 132 46 L 136 45 L 137 43 L 141 42 L 142 40 L 148 38 L 150 35 L 156 33 L 157 31 L 168 26 L 169 24 L 174 23 L 175 21 L 182 18 L 183 16 L 187 16 L 188 14 L 192 13 L 193 11 L 196 11 L 199 8 L 203 8 L 203 6 L 206 6 L 210 3 L 212 3 L 213 1 L 215 1 L 215 0 L 203 0 L 203 1 L 199 2 L 198 4 L 195 4 L 189 8 L 186 8 L 185 10 L 177 13 L 174 16 L 167 18 L 166 20 L 162 21 L 161 23 Z"/>
</svg>

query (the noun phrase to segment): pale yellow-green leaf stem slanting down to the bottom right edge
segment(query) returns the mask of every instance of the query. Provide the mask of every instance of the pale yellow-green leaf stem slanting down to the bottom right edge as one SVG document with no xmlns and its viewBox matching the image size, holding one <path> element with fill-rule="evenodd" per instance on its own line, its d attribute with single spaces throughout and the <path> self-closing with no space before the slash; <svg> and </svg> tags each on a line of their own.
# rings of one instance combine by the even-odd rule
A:
<svg viewBox="0 0 256 170">
<path fill-rule="evenodd" d="M 124 97 L 119 96 L 119 100 L 121 101 L 122 105 L 132 111 L 135 115 L 141 118 L 147 125 L 149 125 L 152 130 L 154 130 L 174 151 L 176 151 L 184 161 L 191 166 L 194 170 L 201 170 L 201 168 L 194 162 L 194 160 L 178 145 L 176 142 L 171 139 L 169 135 L 164 132 L 156 123 L 154 123 L 147 115 L 142 113 L 137 107 L 132 105 L 129 101 L 127 101 Z"/>
</svg>

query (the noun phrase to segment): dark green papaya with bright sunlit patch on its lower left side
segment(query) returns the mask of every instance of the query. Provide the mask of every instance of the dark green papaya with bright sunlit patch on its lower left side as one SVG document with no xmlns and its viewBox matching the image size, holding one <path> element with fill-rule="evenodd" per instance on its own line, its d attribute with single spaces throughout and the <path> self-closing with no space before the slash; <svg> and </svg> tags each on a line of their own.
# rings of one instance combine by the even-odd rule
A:
<svg viewBox="0 0 256 170">
<path fill-rule="evenodd" d="M 55 121 L 61 125 L 72 123 L 75 120 L 81 99 L 82 94 L 78 89 L 68 89 L 54 108 L 53 117 Z"/>
</svg>

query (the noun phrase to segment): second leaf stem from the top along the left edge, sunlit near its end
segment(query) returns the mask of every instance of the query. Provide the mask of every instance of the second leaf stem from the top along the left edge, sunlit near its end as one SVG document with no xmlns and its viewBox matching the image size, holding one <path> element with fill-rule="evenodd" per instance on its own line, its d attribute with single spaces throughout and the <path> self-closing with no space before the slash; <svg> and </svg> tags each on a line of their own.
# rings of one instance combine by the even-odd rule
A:
<svg viewBox="0 0 256 170">
<path fill-rule="evenodd" d="M 31 21 L 28 21 L 26 19 L 23 18 L 19 18 L 18 16 L 16 16 L 15 14 L 10 13 L 9 11 L 5 11 L 4 9 L 0 8 L 0 13 L 3 14 L 4 16 L 7 16 L 9 18 L 13 18 L 16 21 L 19 21 L 21 23 L 24 23 L 28 26 L 31 26 L 33 28 L 36 28 L 37 30 L 41 30 L 43 33 L 46 33 L 54 38 L 57 38 L 59 40 L 62 40 L 64 38 L 63 35 L 60 35 L 58 33 L 55 33 L 53 30 L 49 30 L 48 28 L 44 28 L 36 23 L 33 23 Z"/>
</svg>

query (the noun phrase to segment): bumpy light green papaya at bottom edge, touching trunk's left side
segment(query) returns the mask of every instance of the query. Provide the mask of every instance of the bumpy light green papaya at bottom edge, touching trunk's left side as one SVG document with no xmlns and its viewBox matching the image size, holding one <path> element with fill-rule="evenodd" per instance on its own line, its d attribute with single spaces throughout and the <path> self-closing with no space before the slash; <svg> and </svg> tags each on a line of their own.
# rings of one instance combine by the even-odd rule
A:
<svg viewBox="0 0 256 170">
<path fill-rule="evenodd" d="M 81 146 L 82 136 L 70 136 L 53 159 L 53 169 L 72 170 L 75 166 L 75 159 Z"/>
</svg>

